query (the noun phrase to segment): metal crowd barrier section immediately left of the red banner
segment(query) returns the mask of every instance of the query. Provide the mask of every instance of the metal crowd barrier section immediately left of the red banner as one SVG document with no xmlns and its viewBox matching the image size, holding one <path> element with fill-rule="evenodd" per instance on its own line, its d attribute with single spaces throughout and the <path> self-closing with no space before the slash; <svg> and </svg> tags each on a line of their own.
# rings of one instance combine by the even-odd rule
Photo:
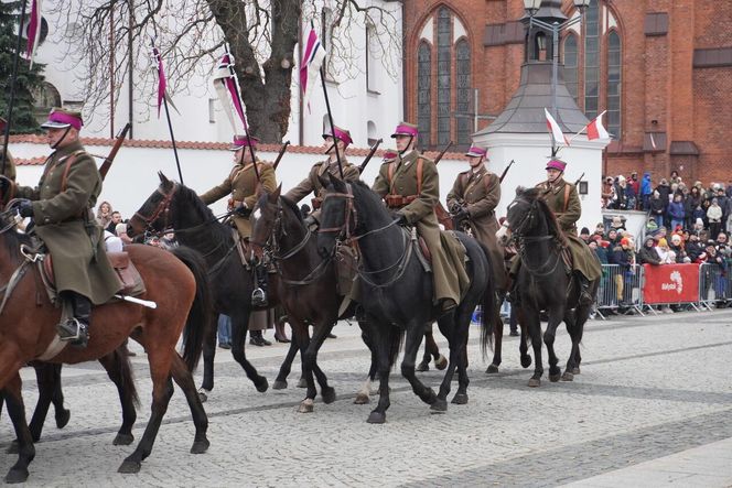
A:
<svg viewBox="0 0 732 488">
<path fill-rule="evenodd" d="M 620 264 L 603 264 L 602 278 L 595 300 L 598 315 L 605 319 L 607 311 L 633 310 L 643 314 L 643 272 L 642 265 L 635 264 L 623 269 Z"/>
</svg>

